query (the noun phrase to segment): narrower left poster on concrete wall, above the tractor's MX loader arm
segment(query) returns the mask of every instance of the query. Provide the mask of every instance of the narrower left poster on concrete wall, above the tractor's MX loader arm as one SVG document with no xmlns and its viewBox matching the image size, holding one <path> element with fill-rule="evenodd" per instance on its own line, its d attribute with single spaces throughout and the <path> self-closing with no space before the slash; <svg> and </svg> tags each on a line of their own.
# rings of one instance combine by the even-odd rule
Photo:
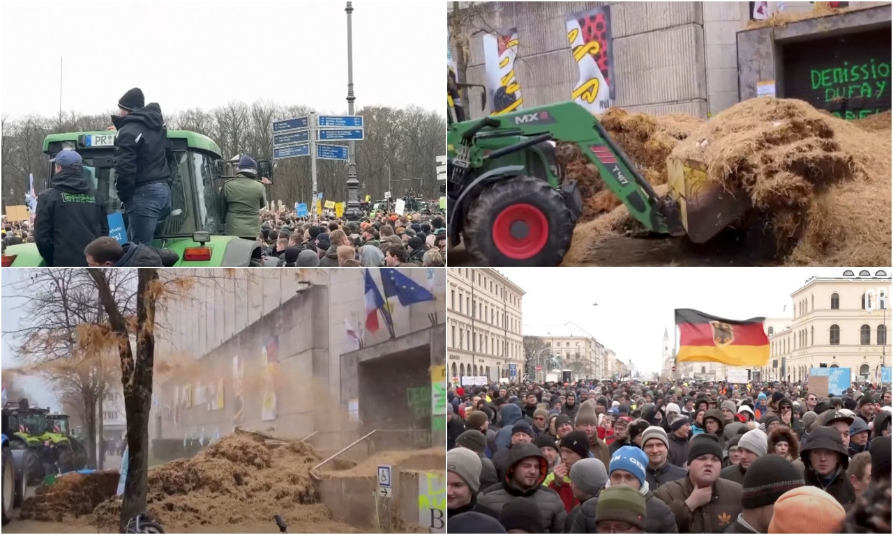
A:
<svg viewBox="0 0 893 535">
<path fill-rule="evenodd" d="M 521 85 L 514 74 L 514 58 L 518 52 L 518 29 L 500 30 L 497 35 L 481 36 L 484 45 L 487 101 L 490 115 L 500 115 L 522 108 Z"/>
</svg>

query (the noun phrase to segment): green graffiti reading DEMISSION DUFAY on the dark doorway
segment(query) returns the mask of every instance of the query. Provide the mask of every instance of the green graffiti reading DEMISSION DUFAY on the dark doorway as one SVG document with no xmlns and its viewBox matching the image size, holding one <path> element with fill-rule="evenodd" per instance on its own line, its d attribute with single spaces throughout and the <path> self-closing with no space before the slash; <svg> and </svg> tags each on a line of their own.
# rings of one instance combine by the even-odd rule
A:
<svg viewBox="0 0 893 535">
<path fill-rule="evenodd" d="M 890 64 L 875 60 L 855 64 L 843 62 L 838 67 L 811 70 L 810 82 L 814 91 L 824 91 L 825 103 L 844 99 L 851 101 L 856 98 L 880 100 L 890 89 Z M 834 111 L 834 115 L 843 119 L 862 119 L 881 111 L 886 110 L 865 107 L 843 112 Z"/>
</svg>

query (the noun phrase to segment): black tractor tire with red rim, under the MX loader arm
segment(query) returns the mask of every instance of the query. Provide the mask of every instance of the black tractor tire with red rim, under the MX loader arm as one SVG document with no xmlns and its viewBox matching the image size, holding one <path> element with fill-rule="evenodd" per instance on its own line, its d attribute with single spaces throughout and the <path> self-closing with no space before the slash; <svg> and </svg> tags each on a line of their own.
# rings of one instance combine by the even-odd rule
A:
<svg viewBox="0 0 893 535">
<path fill-rule="evenodd" d="M 463 243 L 480 267 L 552 267 L 571 245 L 573 217 L 545 180 L 513 177 L 480 192 L 465 215 Z"/>
</svg>

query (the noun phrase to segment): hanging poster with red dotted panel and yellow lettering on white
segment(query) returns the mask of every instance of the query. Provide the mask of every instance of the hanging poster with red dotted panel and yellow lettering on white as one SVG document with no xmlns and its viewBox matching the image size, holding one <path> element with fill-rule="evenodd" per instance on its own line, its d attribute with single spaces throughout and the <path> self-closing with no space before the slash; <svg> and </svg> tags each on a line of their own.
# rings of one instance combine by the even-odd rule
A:
<svg viewBox="0 0 893 535">
<path fill-rule="evenodd" d="M 611 7 L 573 13 L 566 22 L 567 40 L 580 71 L 571 100 L 594 114 L 604 113 L 614 98 Z"/>
</svg>

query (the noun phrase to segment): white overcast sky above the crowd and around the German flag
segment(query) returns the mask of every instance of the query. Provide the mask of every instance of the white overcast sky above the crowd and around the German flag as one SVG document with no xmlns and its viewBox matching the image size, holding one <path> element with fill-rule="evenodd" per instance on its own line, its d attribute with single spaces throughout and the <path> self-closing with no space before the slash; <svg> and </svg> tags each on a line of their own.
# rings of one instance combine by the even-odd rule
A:
<svg viewBox="0 0 893 535">
<path fill-rule="evenodd" d="M 839 268 L 502 268 L 527 292 L 528 325 L 572 321 L 624 362 L 655 372 L 663 330 L 673 343 L 673 309 L 729 319 L 791 317 L 790 294 L 810 276 L 841 276 Z M 873 271 L 872 271 L 873 273 Z M 598 303 L 598 306 L 593 306 Z M 787 306 L 787 308 L 785 308 Z M 541 329 L 537 329 L 540 331 Z"/>
</svg>

